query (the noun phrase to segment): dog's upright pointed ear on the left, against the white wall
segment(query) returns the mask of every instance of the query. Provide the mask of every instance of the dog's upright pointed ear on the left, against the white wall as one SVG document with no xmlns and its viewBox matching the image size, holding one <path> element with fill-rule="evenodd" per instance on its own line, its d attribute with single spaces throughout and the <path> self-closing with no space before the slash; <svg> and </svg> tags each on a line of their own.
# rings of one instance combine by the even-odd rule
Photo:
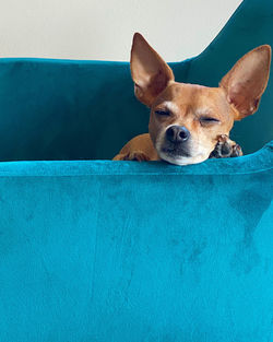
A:
<svg viewBox="0 0 273 342">
<path fill-rule="evenodd" d="M 175 80 L 169 66 L 140 33 L 135 33 L 133 36 L 130 66 L 134 94 L 140 102 L 149 107 L 156 96 L 164 91 L 168 82 Z"/>
</svg>

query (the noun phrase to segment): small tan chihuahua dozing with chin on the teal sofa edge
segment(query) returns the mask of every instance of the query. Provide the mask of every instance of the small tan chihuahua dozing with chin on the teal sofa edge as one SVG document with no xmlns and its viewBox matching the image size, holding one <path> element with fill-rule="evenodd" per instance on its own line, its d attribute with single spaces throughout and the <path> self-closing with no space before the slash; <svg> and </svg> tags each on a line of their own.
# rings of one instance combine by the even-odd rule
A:
<svg viewBox="0 0 273 342">
<path fill-rule="evenodd" d="M 218 87 L 178 83 L 169 66 L 135 33 L 131 74 L 135 96 L 151 108 L 149 133 L 130 140 L 114 161 L 188 165 L 241 155 L 229 131 L 235 120 L 257 111 L 270 62 L 271 47 L 262 45 L 237 61 Z"/>
</svg>

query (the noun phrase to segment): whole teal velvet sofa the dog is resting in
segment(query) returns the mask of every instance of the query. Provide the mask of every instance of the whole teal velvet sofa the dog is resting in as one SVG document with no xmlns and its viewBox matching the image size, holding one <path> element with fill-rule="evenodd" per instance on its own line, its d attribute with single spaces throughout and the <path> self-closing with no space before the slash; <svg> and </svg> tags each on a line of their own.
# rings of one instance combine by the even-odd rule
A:
<svg viewBox="0 0 273 342">
<path fill-rule="evenodd" d="M 245 0 L 176 79 L 217 85 L 272 17 Z M 272 108 L 273 78 L 242 157 L 111 162 L 147 129 L 129 63 L 0 59 L 0 341 L 272 342 Z"/>
</svg>

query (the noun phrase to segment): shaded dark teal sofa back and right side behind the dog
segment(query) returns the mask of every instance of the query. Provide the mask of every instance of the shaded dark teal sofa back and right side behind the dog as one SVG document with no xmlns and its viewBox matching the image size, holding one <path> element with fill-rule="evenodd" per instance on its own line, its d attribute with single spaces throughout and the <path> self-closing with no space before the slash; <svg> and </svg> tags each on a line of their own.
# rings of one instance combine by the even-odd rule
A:
<svg viewBox="0 0 273 342">
<path fill-rule="evenodd" d="M 245 0 L 198 57 L 170 63 L 178 82 L 217 86 L 250 49 L 273 47 L 273 1 Z M 183 47 L 181 47 L 182 49 Z M 186 47 L 187 48 L 187 47 Z M 273 139 L 273 76 L 259 111 L 236 122 L 244 153 Z M 128 62 L 0 59 L 0 161 L 107 160 L 147 132 Z"/>
</svg>

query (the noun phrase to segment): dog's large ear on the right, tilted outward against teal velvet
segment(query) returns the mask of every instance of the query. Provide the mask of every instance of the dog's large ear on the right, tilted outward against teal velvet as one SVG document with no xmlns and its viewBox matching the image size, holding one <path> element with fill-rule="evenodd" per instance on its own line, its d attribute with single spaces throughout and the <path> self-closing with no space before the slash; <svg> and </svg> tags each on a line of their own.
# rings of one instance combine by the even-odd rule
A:
<svg viewBox="0 0 273 342">
<path fill-rule="evenodd" d="M 222 79 L 228 102 L 235 108 L 235 120 L 249 116 L 259 107 L 268 85 L 271 62 L 271 47 L 261 45 L 249 51 Z"/>
</svg>

